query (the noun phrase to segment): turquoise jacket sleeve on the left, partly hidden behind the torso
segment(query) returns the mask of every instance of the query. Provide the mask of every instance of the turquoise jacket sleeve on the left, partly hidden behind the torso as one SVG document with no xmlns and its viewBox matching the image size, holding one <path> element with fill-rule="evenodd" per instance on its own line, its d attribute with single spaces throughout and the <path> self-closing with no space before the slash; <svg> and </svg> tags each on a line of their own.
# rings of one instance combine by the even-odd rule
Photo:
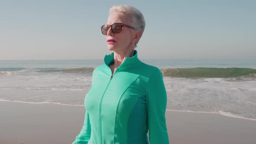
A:
<svg viewBox="0 0 256 144">
<path fill-rule="evenodd" d="M 84 125 L 82 127 L 82 130 L 80 131 L 80 134 L 78 134 L 75 138 L 75 141 L 72 144 L 87 144 L 91 137 L 91 124 L 90 124 L 90 118 L 87 111 L 85 111 L 85 121 Z"/>
</svg>

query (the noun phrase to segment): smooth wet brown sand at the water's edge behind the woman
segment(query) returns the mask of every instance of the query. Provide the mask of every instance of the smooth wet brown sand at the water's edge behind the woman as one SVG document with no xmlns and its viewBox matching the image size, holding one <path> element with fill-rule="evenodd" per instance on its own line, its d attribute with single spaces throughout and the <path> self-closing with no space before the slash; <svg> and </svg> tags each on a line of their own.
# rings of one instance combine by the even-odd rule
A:
<svg viewBox="0 0 256 144">
<path fill-rule="evenodd" d="M 71 144 L 82 106 L 0 101 L 0 144 Z M 170 144 L 255 144 L 256 121 L 213 113 L 166 111 Z"/>
</svg>

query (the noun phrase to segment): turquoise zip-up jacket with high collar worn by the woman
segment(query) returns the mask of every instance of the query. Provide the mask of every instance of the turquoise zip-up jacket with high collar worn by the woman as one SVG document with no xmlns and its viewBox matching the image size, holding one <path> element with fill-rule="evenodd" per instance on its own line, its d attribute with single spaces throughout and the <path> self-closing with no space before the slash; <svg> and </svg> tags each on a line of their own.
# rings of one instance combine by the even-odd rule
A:
<svg viewBox="0 0 256 144">
<path fill-rule="evenodd" d="M 94 69 L 84 125 L 72 144 L 169 144 L 162 73 L 137 54 L 135 50 L 113 75 L 108 65 L 114 53 Z"/>
</svg>

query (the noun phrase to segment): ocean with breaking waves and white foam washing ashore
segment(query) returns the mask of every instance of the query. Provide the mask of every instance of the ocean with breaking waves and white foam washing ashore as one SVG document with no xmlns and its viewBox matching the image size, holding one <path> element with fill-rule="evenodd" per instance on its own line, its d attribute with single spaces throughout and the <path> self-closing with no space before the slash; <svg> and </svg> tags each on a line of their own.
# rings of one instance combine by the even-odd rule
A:
<svg viewBox="0 0 256 144">
<path fill-rule="evenodd" d="M 141 59 L 164 75 L 167 111 L 256 120 L 256 59 Z M 0 61 L 0 101 L 84 106 L 103 60 Z"/>
</svg>

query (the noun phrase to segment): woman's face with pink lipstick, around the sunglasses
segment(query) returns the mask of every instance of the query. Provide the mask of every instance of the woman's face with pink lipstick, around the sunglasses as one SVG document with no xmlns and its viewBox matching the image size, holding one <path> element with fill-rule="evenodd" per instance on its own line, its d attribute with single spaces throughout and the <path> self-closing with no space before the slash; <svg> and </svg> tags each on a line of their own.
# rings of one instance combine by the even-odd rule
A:
<svg viewBox="0 0 256 144">
<path fill-rule="evenodd" d="M 123 13 L 112 12 L 108 16 L 107 25 L 112 25 L 114 23 L 123 23 L 128 25 L 128 16 Z M 122 26 L 120 33 L 113 33 L 111 28 L 108 29 L 106 34 L 106 41 L 109 50 L 115 52 L 125 52 L 129 46 L 133 46 L 135 33 L 132 32 L 131 28 Z"/>
</svg>

